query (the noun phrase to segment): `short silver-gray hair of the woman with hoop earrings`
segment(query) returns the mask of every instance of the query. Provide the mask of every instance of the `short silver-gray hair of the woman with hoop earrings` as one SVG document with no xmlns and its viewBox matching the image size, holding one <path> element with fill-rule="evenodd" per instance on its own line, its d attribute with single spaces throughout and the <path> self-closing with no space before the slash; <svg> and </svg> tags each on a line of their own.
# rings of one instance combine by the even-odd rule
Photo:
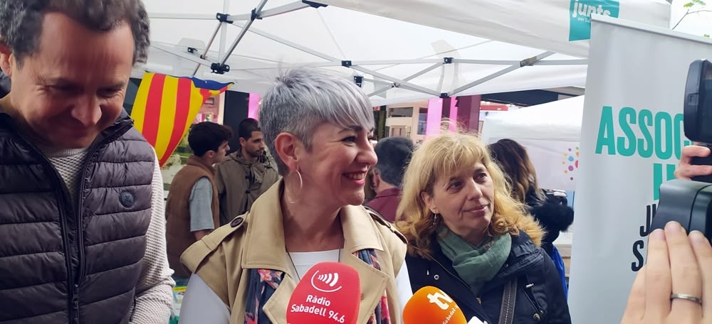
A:
<svg viewBox="0 0 712 324">
<path fill-rule="evenodd" d="M 286 165 L 274 141 L 281 133 L 297 136 L 309 150 L 314 129 L 323 123 L 373 129 L 373 107 L 352 81 L 313 68 L 295 68 L 277 78 L 262 98 L 259 123 L 281 175 Z"/>
</svg>

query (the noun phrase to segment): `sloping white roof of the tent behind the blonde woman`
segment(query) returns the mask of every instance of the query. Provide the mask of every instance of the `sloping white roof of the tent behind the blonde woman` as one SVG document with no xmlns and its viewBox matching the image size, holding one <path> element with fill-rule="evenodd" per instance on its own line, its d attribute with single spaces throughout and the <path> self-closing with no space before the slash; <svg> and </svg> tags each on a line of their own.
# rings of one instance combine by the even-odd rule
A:
<svg viewBox="0 0 712 324">
<path fill-rule="evenodd" d="M 482 139 L 581 140 L 585 96 L 538 104 L 486 117 Z"/>
</svg>

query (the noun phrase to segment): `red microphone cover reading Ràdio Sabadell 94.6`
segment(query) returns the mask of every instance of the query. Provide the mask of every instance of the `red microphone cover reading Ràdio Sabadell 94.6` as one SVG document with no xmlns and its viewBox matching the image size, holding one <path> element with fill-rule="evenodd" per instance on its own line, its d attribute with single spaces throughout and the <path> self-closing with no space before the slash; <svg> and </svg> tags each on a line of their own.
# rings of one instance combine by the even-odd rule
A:
<svg viewBox="0 0 712 324">
<path fill-rule="evenodd" d="M 315 264 L 289 298 L 287 324 L 355 324 L 360 302 L 355 269 L 337 262 Z"/>
</svg>

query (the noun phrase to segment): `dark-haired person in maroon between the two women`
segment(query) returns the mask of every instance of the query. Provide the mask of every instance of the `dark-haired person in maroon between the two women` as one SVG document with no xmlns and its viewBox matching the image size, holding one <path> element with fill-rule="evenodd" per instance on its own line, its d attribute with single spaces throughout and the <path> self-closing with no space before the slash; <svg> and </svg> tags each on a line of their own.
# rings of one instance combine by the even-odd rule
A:
<svg viewBox="0 0 712 324">
<path fill-rule="evenodd" d="M 376 196 L 367 206 L 389 222 L 395 222 L 400 186 L 413 153 L 413 141 L 407 137 L 386 137 L 378 141 L 375 151 L 378 163 L 373 167 L 372 188 Z"/>
</svg>

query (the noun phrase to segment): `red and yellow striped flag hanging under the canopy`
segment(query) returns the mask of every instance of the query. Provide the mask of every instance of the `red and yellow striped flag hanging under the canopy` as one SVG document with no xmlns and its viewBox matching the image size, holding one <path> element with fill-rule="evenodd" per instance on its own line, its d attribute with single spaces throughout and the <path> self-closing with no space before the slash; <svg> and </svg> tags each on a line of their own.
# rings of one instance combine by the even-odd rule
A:
<svg viewBox="0 0 712 324">
<path fill-rule="evenodd" d="M 175 151 L 205 101 L 232 83 L 146 72 L 131 111 L 134 126 L 156 150 L 163 166 Z"/>
</svg>

